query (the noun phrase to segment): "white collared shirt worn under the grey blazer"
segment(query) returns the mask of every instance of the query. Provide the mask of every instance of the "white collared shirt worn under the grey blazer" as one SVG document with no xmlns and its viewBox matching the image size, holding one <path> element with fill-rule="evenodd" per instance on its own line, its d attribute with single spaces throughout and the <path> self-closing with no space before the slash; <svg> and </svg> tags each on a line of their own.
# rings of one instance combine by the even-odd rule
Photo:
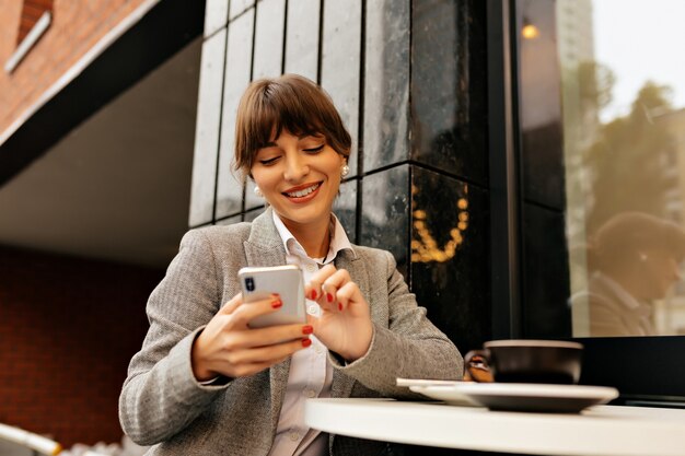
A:
<svg viewBox="0 0 685 456">
<path fill-rule="evenodd" d="M 274 223 L 286 247 L 288 265 L 302 268 L 304 283 L 307 283 L 318 268 L 333 262 L 338 252 L 351 248 L 351 244 L 338 219 L 332 214 L 330 245 L 325 258 L 313 259 L 288 231 L 274 212 Z M 306 300 L 307 314 L 317 316 L 318 304 Z M 312 344 L 294 353 L 290 360 L 288 386 L 283 407 L 278 419 L 276 437 L 270 456 L 321 456 L 328 454 L 328 434 L 304 425 L 304 401 L 313 397 L 330 397 L 333 366 L 328 362 L 328 349 L 310 336 Z"/>
</svg>

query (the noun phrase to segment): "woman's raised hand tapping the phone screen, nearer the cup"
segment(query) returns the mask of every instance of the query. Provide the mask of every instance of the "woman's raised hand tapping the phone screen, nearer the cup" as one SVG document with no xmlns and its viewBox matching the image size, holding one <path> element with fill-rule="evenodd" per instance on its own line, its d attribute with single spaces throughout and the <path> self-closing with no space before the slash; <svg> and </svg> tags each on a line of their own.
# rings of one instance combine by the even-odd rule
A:
<svg viewBox="0 0 685 456">
<path fill-rule="evenodd" d="M 314 274 L 305 293 L 322 309 L 318 318 L 309 316 L 318 340 L 347 361 L 363 356 L 371 344 L 373 324 L 369 304 L 349 272 L 326 265 Z"/>
</svg>

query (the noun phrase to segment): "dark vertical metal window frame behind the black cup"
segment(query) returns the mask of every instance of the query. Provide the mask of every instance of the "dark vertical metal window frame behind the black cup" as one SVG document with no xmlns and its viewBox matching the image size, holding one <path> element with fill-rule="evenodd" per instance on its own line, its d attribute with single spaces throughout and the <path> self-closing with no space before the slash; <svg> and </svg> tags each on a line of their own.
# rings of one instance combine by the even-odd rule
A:
<svg viewBox="0 0 685 456">
<path fill-rule="evenodd" d="M 515 43 L 509 0 L 487 0 L 492 338 L 521 337 Z"/>
</svg>

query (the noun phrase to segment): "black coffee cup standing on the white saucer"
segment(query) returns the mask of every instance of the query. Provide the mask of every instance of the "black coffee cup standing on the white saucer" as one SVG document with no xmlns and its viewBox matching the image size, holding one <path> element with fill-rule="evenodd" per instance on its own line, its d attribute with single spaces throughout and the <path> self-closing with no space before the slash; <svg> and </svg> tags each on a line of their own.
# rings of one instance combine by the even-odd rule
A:
<svg viewBox="0 0 685 456">
<path fill-rule="evenodd" d="M 583 346 L 561 340 L 492 340 L 464 359 L 475 382 L 574 385 Z"/>
</svg>

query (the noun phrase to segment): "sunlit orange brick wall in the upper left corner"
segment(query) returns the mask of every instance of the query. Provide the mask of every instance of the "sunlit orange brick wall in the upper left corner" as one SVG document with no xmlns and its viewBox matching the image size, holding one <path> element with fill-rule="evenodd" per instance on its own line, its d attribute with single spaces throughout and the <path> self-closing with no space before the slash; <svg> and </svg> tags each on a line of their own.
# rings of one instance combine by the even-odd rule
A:
<svg viewBox="0 0 685 456">
<path fill-rule="evenodd" d="M 107 32 L 146 0 L 56 0 L 53 23 L 16 69 L 1 68 L 18 47 L 23 2 L 0 8 L 0 133 Z"/>
</svg>

